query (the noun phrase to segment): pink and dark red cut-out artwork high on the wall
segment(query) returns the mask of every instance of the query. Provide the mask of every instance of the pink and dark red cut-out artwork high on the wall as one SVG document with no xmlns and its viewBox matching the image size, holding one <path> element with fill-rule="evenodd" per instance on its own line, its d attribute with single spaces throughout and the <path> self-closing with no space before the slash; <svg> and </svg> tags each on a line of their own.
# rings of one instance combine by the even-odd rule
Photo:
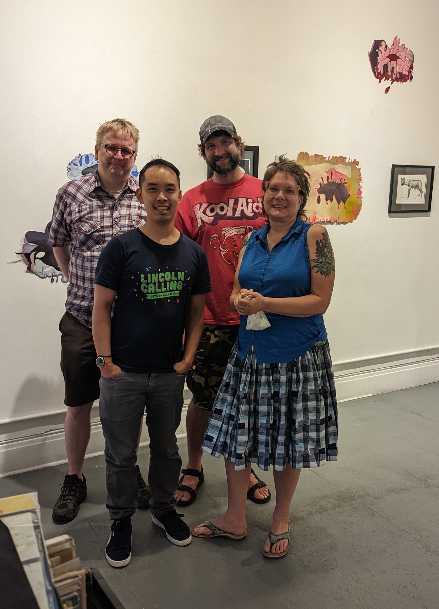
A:
<svg viewBox="0 0 439 609">
<path fill-rule="evenodd" d="M 372 72 L 378 82 L 390 80 L 394 82 L 407 82 L 413 80 L 413 55 L 405 44 L 401 44 L 398 36 L 393 38 L 393 43 L 387 46 L 385 40 L 374 40 L 372 48 L 368 52 Z M 388 93 L 390 85 L 384 93 Z"/>
</svg>

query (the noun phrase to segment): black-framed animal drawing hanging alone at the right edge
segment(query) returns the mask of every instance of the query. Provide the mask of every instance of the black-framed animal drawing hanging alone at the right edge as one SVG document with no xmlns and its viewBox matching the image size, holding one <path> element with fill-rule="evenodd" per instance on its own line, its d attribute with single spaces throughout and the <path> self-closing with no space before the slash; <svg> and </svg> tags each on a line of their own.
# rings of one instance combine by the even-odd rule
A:
<svg viewBox="0 0 439 609">
<path fill-rule="evenodd" d="M 392 165 L 389 214 L 426 213 L 431 208 L 434 166 Z"/>
</svg>

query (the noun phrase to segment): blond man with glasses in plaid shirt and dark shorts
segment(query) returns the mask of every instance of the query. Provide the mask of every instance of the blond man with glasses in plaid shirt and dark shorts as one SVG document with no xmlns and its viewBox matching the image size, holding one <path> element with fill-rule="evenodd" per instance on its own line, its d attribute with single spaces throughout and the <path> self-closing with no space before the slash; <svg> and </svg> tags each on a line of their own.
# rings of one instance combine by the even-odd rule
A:
<svg viewBox="0 0 439 609">
<path fill-rule="evenodd" d="M 76 517 L 87 494 L 82 466 L 90 440 L 91 407 L 99 398 L 100 367 L 111 361 L 111 353 L 96 353 L 91 334 L 97 259 L 114 235 L 140 227 L 146 219 L 136 199 L 138 182 L 130 175 L 138 144 L 139 131 L 131 122 L 119 118 L 104 122 L 96 133 L 97 171 L 65 184 L 55 200 L 49 245 L 69 280 L 60 322 L 69 473 L 52 513 L 59 524 Z M 137 479 L 139 507 L 149 507 L 150 490 L 139 469 Z"/>
</svg>

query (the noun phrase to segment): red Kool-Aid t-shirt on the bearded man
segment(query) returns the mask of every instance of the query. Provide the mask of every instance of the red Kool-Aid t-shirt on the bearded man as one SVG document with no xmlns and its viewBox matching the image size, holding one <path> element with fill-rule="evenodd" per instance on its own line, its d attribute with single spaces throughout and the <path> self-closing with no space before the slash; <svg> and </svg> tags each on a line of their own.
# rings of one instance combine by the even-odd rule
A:
<svg viewBox="0 0 439 609">
<path fill-rule="evenodd" d="M 206 295 L 205 323 L 234 325 L 239 315 L 229 304 L 242 241 L 265 224 L 262 181 L 244 174 L 232 184 L 206 180 L 183 195 L 175 228 L 205 250 L 212 291 Z"/>
</svg>

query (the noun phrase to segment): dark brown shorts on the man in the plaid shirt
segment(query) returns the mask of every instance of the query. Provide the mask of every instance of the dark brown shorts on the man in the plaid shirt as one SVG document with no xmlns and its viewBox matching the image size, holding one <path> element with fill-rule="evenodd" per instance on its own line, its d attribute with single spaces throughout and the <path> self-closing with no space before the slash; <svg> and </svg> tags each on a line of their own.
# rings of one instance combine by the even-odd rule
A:
<svg viewBox="0 0 439 609">
<path fill-rule="evenodd" d="M 82 406 L 99 398 L 100 370 L 96 365 L 91 328 L 67 311 L 61 317 L 61 370 L 66 406 Z M 108 355 L 103 353 L 101 355 Z"/>
</svg>

